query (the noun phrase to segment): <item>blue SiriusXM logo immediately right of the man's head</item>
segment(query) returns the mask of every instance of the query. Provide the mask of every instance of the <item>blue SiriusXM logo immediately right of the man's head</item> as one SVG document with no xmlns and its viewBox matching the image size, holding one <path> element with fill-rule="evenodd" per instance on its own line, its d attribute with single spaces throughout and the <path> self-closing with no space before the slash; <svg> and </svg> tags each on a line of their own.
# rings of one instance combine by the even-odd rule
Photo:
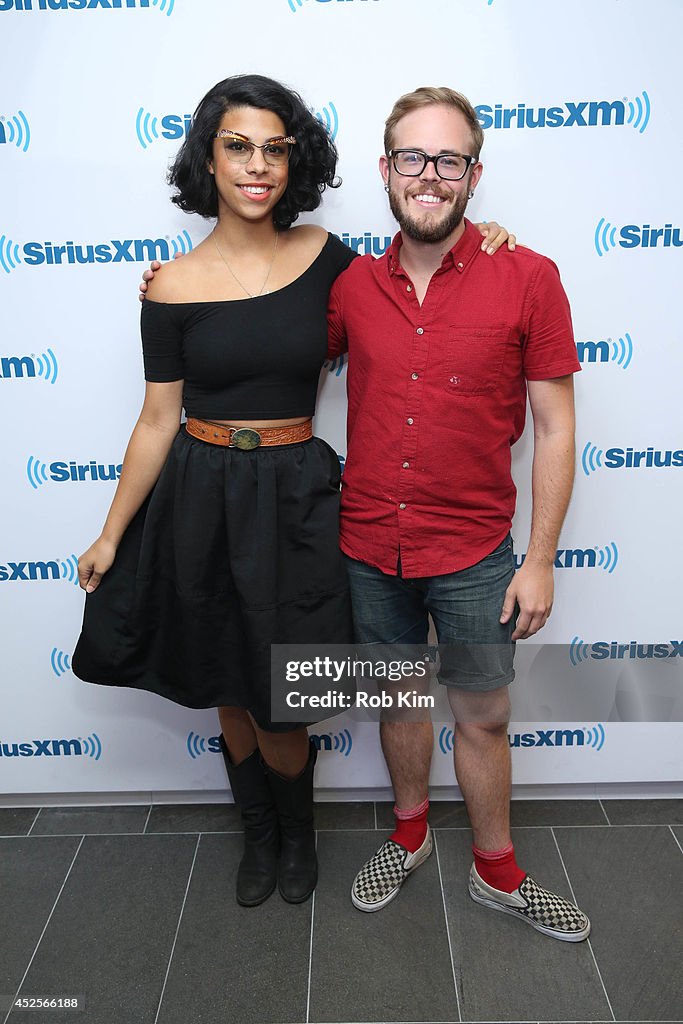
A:
<svg viewBox="0 0 683 1024">
<path fill-rule="evenodd" d="M 479 103 L 474 108 L 479 124 L 486 128 L 594 128 L 609 125 L 631 125 L 641 134 L 650 120 L 650 99 L 646 92 L 642 98 L 566 100 L 556 106 L 488 106 Z"/>
</svg>

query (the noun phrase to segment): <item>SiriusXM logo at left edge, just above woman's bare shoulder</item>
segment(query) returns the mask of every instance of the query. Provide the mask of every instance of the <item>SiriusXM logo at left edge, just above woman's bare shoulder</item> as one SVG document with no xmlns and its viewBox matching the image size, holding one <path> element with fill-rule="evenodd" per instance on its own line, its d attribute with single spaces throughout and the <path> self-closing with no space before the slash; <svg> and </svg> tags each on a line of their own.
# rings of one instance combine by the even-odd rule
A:
<svg viewBox="0 0 683 1024">
<path fill-rule="evenodd" d="M 174 239 L 166 234 L 163 239 L 112 239 L 99 245 L 77 245 L 66 242 L 27 242 L 24 245 L 0 234 L 0 266 L 5 273 L 11 273 L 19 263 L 27 266 L 60 265 L 62 263 L 150 263 L 153 259 L 166 262 L 176 253 L 183 255 L 193 248 L 193 240 L 187 231 L 181 231 Z"/>
</svg>

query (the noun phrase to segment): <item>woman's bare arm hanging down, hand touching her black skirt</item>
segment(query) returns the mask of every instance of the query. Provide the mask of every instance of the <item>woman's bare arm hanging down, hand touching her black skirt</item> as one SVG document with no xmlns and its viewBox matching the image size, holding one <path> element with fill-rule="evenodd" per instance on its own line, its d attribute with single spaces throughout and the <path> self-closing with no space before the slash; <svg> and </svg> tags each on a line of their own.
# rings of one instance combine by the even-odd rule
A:
<svg viewBox="0 0 683 1024">
<path fill-rule="evenodd" d="M 78 560 L 79 584 L 91 594 L 111 567 L 129 522 L 155 483 L 180 425 L 183 382 L 147 382 L 112 507 L 97 540 Z"/>
</svg>

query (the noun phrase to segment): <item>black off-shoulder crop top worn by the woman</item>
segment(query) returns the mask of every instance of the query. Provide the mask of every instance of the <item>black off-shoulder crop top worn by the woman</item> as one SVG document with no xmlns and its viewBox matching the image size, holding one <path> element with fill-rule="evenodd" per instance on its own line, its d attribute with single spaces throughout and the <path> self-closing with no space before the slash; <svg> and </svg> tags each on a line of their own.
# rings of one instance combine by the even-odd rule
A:
<svg viewBox="0 0 683 1024">
<path fill-rule="evenodd" d="M 328 296 L 355 255 L 329 234 L 301 276 L 269 295 L 222 302 L 145 299 L 145 380 L 183 380 L 188 417 L 312 416 L 327 353 Z"/>
</svg>

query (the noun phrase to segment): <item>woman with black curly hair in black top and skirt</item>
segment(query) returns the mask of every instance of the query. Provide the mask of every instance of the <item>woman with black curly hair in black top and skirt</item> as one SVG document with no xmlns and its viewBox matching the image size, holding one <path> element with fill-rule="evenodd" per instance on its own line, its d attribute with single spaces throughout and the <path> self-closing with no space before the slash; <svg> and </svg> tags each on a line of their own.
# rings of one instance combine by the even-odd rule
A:
<svg viewBox="0 0 683 1024">
<path fill-rule="evenodd" d="M 180 209 L 216 224 L 151 283 L 142 412 L 79 560 L 76 675 L 218 709 L 245 821 L 245 906 L 276 884 L 301 902 L 317 878 L 315 751 L 303 725 L 271 719 L 270 645 L 351 640 L 339 460 L 311 417 L 328 294 L 354 253 L 291 226 L 338 183 L 336 161 L 328 132 L 271 79 L 228 78 L 199 104 L 169 180 Z"/>
</svg>

